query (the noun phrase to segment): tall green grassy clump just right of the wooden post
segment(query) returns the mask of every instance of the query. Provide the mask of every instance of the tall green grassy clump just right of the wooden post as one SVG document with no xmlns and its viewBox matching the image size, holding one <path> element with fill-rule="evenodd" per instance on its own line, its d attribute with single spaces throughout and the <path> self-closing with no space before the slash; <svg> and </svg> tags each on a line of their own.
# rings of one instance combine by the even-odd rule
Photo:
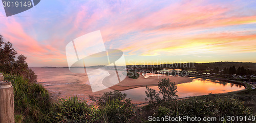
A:
<svg viewBox="0 0 256 123">
<path fill-rule="evenodd" d="M 5 74 L 13 85 L 15 120 L 42 122 L 51 107 L 48 91 L 38 83 L 29 83 L 22 76 Z"/>
</svg>

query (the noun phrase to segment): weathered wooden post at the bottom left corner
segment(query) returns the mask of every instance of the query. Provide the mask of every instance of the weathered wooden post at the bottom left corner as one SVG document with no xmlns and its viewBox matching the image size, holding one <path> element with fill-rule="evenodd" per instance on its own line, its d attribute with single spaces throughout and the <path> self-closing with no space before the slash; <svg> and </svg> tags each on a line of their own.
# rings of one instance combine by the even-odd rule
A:
<svg viewBox="0 0 256 123">
<path fill-rule="evenodd" d="M 0 123 L 14 122 L 13 86 L 10 81 L 4 81 L 0 73 Z"/>
</svg>

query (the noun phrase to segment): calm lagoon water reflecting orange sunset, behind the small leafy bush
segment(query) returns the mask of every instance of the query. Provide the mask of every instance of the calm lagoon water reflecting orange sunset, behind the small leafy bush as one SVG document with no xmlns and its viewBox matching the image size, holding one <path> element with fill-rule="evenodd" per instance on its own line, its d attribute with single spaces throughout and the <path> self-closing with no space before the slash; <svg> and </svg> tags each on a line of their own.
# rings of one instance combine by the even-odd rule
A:
<svg viewBox="0 0 256 123">
<path fill-rule="evenodd" d="M 158 86 L 152 86 L 150 88 L 159 91 Z M 209 93 L 228 93 L 231 91 L 237 91 L 244 88 L 245 87 L 240 84 L 195 78 L 192 82 L 177 84 L 178 92 L 176 94 L 179 96 L 179 98 L 184 98 L 189 96 L 208 95 Z M 122 93 L 127 94 L 127 97 L 131 98 L 134 102 L 144 102 L 146 97 L 145 91 L 145 87 L 138 87 L 129 90 L 124 90 L 122 91 Z"/>
</svg>

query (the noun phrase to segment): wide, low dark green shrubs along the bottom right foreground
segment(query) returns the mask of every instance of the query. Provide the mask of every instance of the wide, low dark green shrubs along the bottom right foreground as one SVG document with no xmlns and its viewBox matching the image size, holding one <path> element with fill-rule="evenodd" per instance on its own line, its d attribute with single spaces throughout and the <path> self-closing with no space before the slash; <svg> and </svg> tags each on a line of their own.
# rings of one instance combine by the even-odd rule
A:
<svg viewBox="0 0 256 123">
<path fill-rule="evenodd" d="M 150 105 L 148 106 L 150 107 Z M 147 110 L 144 110 L 144 112 L 148 112 Z M 252 108 L 245 107 L 244 102 L 239 99 L 233 97 L 210 99 L 209 96 L 204 96 L 169 102 L 158 106 L 154 109 L 154 112 L 148 115 L 156 117 L 219 117 L 252 116 L 253 113 Z"/>
</svg>

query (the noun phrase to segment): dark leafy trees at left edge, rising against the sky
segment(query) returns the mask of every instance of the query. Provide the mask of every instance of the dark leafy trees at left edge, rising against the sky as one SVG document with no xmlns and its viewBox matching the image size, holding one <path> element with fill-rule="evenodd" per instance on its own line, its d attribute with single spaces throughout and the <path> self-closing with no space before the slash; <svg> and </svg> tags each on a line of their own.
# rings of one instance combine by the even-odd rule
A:
<svg viewBox="0 0 256 123">
<path fill-rule="evenodd" d="M 16 57 L 17 51 L 12 46 L 11 42 L 5 42 L 0 35 L 0 72 L 20 75 L 29 82 L 35 82 L 37 75 L 28 67 L 25 61 L 27 57 L 24 55 Z"/>
</svg>

